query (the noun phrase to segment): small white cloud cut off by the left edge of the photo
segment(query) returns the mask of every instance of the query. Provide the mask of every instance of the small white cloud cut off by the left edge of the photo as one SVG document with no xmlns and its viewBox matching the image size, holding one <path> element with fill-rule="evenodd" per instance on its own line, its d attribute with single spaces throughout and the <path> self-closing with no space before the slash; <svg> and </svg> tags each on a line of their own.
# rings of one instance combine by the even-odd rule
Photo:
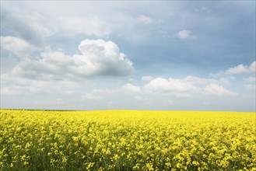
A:
<svg viewBox="0 0 256 171">
<path fill-rule="evenodd" d="M 26 42 L 26 40 L 17 37 L 1 37 L 1 47 L 19 57 L 24 57 L 37 50 L 36 47 Z"/>
</svg>

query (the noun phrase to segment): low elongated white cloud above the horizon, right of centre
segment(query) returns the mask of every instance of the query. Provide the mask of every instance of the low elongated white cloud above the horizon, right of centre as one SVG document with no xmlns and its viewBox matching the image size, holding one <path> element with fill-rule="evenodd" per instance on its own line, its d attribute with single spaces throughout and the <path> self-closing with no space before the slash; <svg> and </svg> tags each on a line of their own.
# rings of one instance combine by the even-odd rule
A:
<svg viewBox="0 0 256 171">
<path fill-rule="evenodd" d="M 187 76 L 184 79 L 163 79 L 156 78 L 143 86 L 144 92 L 163 92 L 163 95 L 173 95 L 177 98 L 185 98 L 195 94 L 214 94 L 218 96 L 235 96 L 219 84 L 229 83 L 228 79 L 202 79 L 194 76 Z M 166 93 L 168 92 L 168 93 Z"/>
</svg>

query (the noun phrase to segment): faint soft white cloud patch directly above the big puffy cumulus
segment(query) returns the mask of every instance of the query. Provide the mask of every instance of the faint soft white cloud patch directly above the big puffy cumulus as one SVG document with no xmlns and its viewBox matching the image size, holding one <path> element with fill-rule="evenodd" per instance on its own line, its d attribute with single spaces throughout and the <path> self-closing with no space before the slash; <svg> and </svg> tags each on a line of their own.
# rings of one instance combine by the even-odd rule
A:
<svg viewBox="0 0 256 171">
<path fill-rule="evenodd" d="M 86 33 L 104 37 L 112 31 L 111 26 L 98 16 L 65 18 L 61 19 L 61 23 L 68 33 Z"/>
</svg>

